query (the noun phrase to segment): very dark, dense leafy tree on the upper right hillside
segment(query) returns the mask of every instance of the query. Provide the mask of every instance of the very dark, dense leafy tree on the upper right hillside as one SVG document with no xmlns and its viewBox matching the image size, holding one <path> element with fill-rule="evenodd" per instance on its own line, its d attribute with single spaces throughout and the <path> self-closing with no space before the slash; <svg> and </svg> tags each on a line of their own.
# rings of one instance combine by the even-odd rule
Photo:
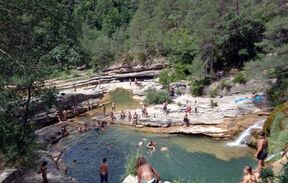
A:
<svg viewBox="0 0 288 183">
<path fill-rule="evenodd" d="M 264 24 L 261 20 L 245 14 L 228 14 L 221 24 L 223 36 L 219 38 L 222 64 L 241 68 L 244 62 L 257 55 L 255 43 L 262 40 Z"/>
</svg>

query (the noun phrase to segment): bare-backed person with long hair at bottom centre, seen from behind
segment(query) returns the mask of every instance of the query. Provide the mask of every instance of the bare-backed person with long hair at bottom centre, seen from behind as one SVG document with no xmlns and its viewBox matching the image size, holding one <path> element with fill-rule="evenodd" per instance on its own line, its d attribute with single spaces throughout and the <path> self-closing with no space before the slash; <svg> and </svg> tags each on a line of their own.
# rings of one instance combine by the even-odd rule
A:
<svg viewBox="0 0 288 183">
<path fill-rule="evenodd" d="M 160 181 L 160 174 L 147 163 L 144 157 L 138 158 L 136 167 L 138 183 L 158 183 Z"/>
</svg>

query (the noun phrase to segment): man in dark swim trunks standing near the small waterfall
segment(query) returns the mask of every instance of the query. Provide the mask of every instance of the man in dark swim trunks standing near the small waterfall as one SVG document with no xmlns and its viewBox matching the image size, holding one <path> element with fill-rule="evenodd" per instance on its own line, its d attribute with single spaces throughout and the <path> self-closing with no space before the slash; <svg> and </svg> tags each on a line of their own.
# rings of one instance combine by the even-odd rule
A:
<svg viewBox="0 0 288 183">
<path fill-rule="evenodd" d="M 266 139 L 265 132 L 261 131 L 258 133 L 258 141 L 257 141 L 257 152 L 255 153 L 255 157 L 258 159 L 258 167 L 257 170 L 260 173 L 262 167 L 264 166 L 264 160 L 268 156 L 268 140 Z"/>
</svg>

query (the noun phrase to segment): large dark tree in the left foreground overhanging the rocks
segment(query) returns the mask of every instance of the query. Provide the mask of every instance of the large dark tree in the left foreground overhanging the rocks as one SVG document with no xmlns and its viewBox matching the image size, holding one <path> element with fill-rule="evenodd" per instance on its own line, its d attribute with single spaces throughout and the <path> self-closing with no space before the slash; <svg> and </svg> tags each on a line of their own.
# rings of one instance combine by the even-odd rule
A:
<svg viewBox="0 0 288 183">
<path fill-rule="evenodd" d="M 27 154 L 32 144 L 31 116 L 44 101 L 44 80 L 53 69 L 82 60 L 76 22 L 69 3 L 0 3 L 0 150 L 8 160 Z"/>
</svg>

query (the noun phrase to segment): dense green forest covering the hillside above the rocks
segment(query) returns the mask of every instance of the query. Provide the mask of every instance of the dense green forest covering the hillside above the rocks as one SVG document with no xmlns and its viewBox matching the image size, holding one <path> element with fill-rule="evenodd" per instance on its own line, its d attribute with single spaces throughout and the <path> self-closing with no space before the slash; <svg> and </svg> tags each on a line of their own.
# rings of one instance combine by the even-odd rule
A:
<svg viewBox="0 0 288 183">
<path fill-rule="evenodd" d="M 29 119 L 39 102 L 53 104 L 54 91 L 43 88 L 53 73 L 82 65 L 97 72 L 123 56 L 144 64 L 165 57 L 161 82 L 189 79 L 196 95 L 233 68 L 276 78 L 269 96 L 283 103 L 287 22 L 287 0 L 2 0 L 0 150 L 11 161 L 29 152 Z"/>
</svg>

